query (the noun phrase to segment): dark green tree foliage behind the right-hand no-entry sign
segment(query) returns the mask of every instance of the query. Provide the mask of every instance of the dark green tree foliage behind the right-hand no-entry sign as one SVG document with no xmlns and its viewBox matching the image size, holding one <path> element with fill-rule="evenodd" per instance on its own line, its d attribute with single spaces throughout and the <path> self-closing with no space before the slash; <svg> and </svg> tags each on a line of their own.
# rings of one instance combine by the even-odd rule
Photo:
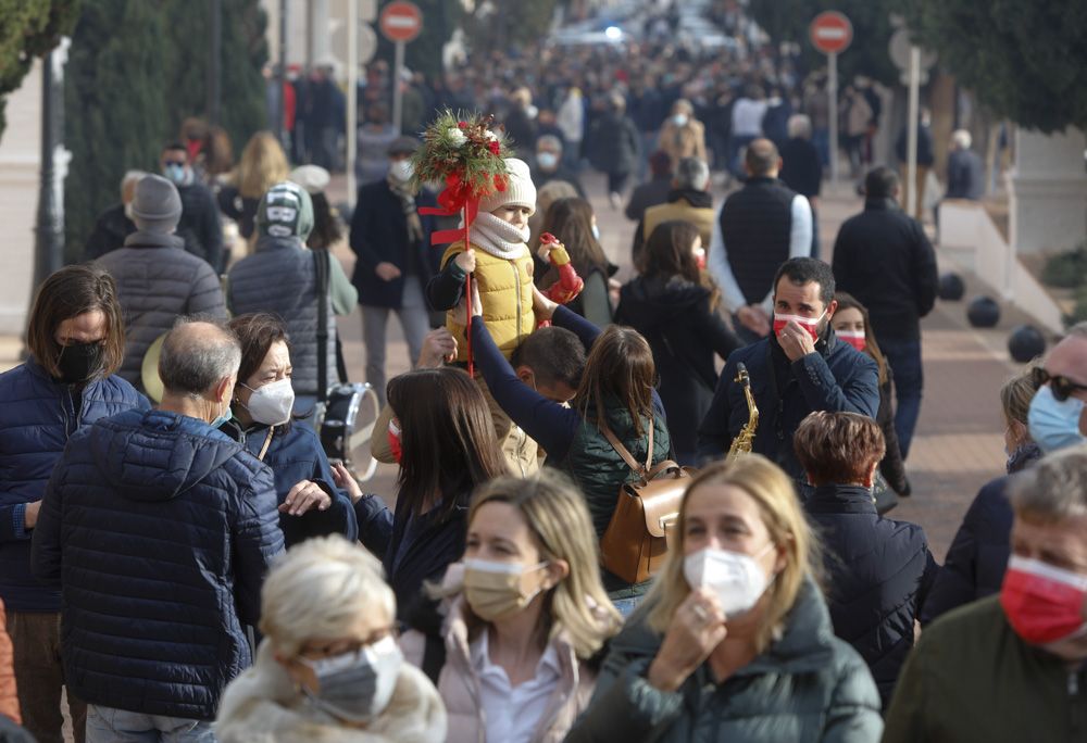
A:
<svg viewBox="0 0 1087 743">
<path fill-rule="evenodd" d="M 812 47 L 808 27 L 823 11 L 839 11 L 853 26 L 853 43 L 838 54 L 842 79 L 866 75 L 885 85 L 897 85 L 899 73 L 887 54 L 887 45 L 895 32 L 890 13 L 900 12 L 894 0 L 750 0 L 749 12 L 775 42 L 799 43 L 805 65 L 813 68 L 825 63 L 825 55 Z"/>
</svg>

